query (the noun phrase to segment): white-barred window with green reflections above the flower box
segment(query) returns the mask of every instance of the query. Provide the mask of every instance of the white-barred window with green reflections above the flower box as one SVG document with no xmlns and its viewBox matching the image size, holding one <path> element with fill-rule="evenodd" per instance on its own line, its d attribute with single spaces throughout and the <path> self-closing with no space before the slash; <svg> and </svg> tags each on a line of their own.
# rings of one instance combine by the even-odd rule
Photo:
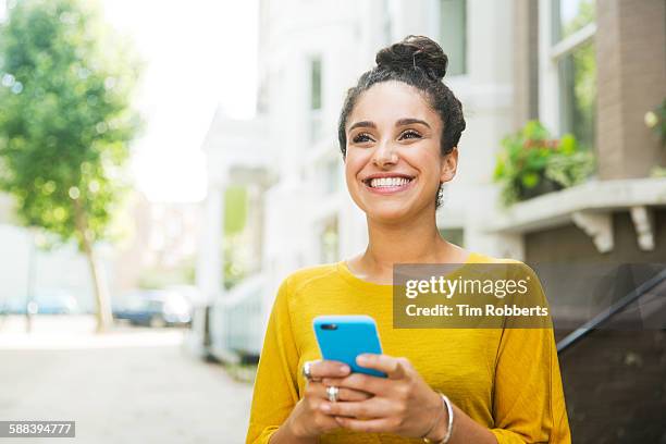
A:
<svg viewBox="0 0 666 444">
<path fill-rule="evenodd" d="M 557 65 L 559 132 L 594 147 L 596 62 L 594 0 L 553 0 L 551 54 Z"/>
</svg>

